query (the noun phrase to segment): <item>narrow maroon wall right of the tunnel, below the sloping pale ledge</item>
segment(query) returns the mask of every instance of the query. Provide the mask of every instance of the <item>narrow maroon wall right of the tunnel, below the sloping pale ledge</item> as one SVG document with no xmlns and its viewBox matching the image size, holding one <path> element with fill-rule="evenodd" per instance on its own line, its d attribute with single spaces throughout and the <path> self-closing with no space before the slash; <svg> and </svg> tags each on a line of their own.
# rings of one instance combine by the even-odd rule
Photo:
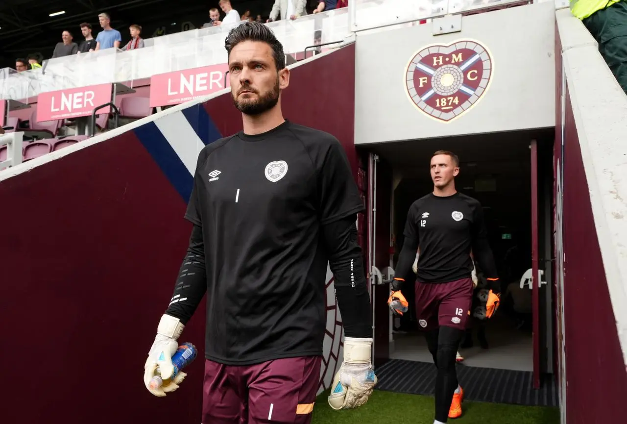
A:
<svg viewBox="0 0 627 424">
<path fill-rule="evenodd" d="M 566 88 L 564 129 L 564 320 L 569 424 L 624 422 L 627 387 L 581 147 Z"/>
</svg>

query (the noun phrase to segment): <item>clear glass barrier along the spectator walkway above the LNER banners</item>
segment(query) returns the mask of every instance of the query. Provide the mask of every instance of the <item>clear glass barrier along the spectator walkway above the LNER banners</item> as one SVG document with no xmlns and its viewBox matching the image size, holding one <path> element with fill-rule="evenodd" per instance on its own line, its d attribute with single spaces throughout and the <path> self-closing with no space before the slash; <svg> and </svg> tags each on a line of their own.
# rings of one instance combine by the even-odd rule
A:
<svg viewBox="0 0 627 424">
<path fill-rule="evenodd" d="M 335 43 L 325 48 L 340 46 L 352 40 L 354 31 L 511 3 L 524 0 L 351 0 L 348 8 L 267 25 L 283 43 L 285 53 L 300 60 L 310 55 L 303 53 L 305 49 L 325 43 Z M 0 98 L 28 100 L 43 92 L 100 83 L 123 82 L 132 87 L 152 75 L 226 63 L 224 40 L 238 24 L 150 38 L 137 50 L 111 48 L 50 59 L 43 68 L 21 73 L 6 68 L 0 70 Z"/>
</svg>

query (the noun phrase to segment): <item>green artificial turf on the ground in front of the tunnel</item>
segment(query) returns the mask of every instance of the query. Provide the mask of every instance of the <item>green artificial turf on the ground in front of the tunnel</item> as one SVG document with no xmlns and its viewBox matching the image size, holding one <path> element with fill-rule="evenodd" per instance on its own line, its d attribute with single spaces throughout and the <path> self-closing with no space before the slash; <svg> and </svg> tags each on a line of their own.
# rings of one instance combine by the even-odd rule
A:
<svg viewBox="0 0 627 424">
<path fill-rule="evenodd" d="M 329 391 L 315 404 L 312 424 L 433 424 L 433 397 L 375 390 L 366 405 L 334 411 Z M 464 401 L 463 414 L 453 424 L 559 424 L 559 409 Z"/>
</svg>

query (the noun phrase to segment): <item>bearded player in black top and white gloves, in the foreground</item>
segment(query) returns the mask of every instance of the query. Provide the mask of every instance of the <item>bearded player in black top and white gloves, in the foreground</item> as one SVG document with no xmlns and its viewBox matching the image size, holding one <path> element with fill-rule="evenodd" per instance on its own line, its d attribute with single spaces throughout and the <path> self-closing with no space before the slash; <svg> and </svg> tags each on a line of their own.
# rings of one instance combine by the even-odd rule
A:
<svg viewBox="0 0 627 424">
<path fill-rule="evenodd" d="M 204 294 L 203 422 L 309 423 L 319 386 L 327 263 L 344 322 L 344 362 L 329 404 L 366 403 L 372 371 L 371 305 L 356 214 L 364 210 L 335 137 L 288 122 L 283 46 L 245 23 L 226 38 L 233 103 L 243 130 L 198 156 L 186 219 L 193 229 L 174 294 L 144 367 L 172 375 L 177 339 Z"/>
</svg>

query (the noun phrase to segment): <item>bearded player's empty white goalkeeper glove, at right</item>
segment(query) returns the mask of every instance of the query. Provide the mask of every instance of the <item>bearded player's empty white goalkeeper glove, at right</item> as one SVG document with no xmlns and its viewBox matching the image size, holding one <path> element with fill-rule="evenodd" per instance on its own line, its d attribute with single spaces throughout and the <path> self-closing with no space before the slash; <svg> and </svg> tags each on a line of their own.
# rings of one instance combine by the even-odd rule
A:
<svg viewBox="0 0 627 424">
<path fill-rule="evenodd" d="M 344 362 L 335 374 L 329 395 L 334 410 L 357 408 L 368 401 L 377 376 L 372 370 L 372 339 L 344 338 Z"/>
</svg>

